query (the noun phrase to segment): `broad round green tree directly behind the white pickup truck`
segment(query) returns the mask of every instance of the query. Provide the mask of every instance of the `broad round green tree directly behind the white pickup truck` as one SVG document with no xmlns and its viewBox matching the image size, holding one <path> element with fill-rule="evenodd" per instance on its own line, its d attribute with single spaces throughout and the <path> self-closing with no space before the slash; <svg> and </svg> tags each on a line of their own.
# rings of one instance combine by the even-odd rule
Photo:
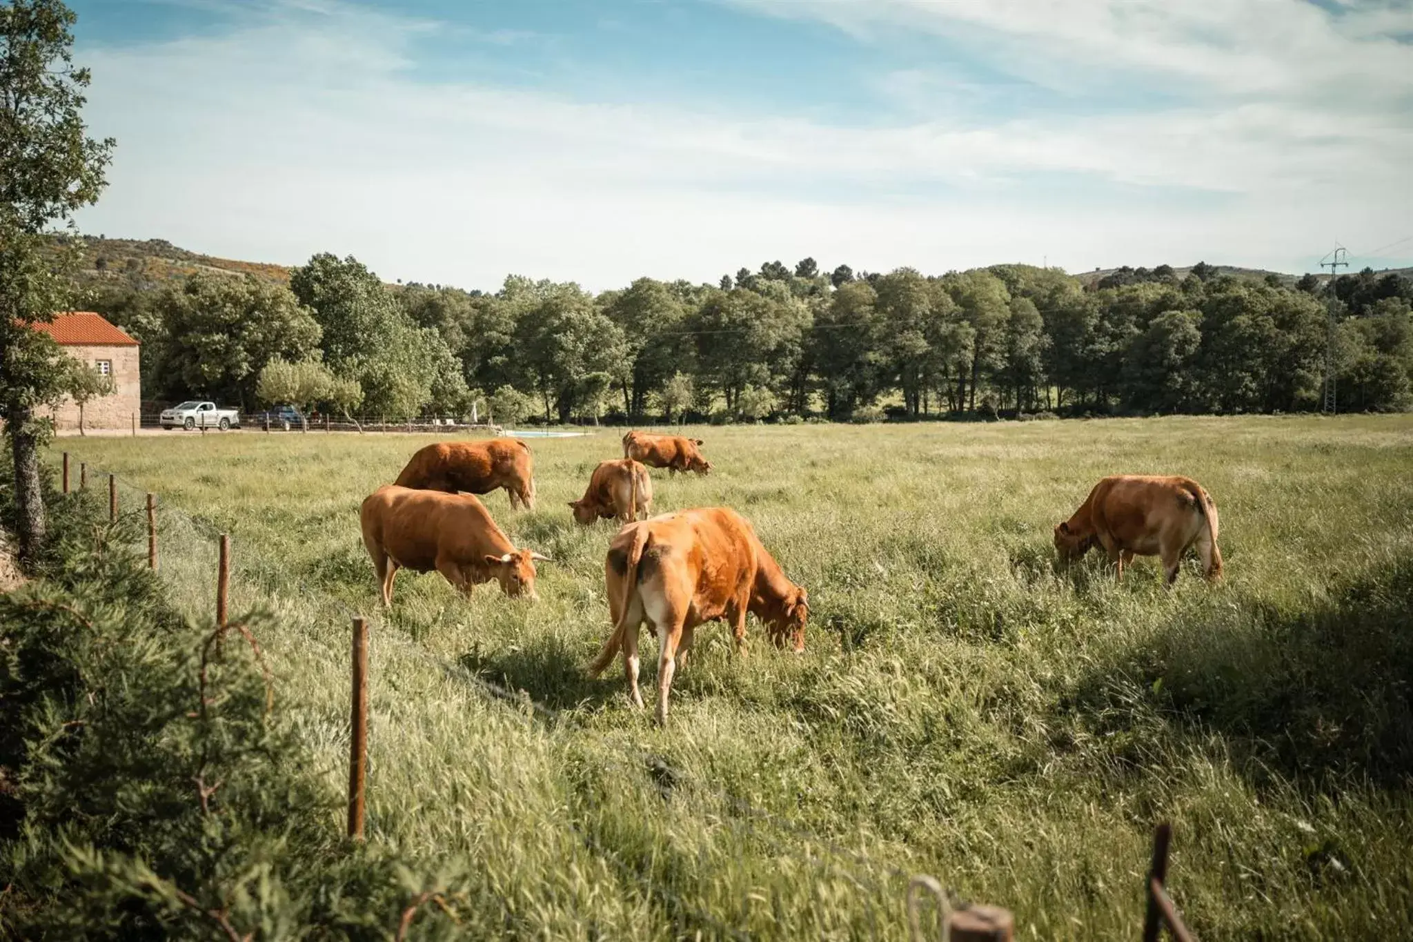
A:
<svg viewBox="0 0 1413 942">
<path fill-rule="evenodd" d="M 192 275 L 161 291 L 151 314 L 158 329 L 143 342 L 155 369 L 144 377 L 171 398 L 205 395 L 246 408 L 267 363 L 319 350 L 312 312 L 287 288 L 254 275 Z"/>
</svg>

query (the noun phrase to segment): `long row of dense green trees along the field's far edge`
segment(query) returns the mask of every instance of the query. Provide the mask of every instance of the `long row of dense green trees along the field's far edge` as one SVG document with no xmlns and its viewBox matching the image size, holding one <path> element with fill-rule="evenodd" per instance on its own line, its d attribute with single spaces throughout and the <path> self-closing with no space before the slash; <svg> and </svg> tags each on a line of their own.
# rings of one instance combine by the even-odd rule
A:
<svg viewBox="0 0 1413 942">
<path fill-rule="evenodd" d="M 639 278 L 593 295 L 512 275 L 482 294 L 386 285 L 319 254 L 288 288 L 192 275 L 90 301 L 143 340 L 146 395 L 243 410 L 278 398 L 410 418 L 476 404 L 512 422 L 1301 411 L 1323 404 L 1331 304 L 1341 411 L 1413 405 L 1413 281 L 1369 270 L 1286 287 L 1159 266 L 1085 287 L 1033 266 L 933 277 L 805 258 L 715 285 Z"/>
</svg>

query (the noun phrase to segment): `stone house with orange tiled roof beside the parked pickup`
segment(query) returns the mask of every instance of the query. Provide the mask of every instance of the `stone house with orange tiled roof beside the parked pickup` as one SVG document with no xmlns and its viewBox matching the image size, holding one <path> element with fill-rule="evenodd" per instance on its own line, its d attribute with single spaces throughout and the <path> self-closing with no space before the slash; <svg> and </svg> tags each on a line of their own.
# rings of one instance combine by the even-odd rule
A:
<svg viewBox="0 0 1413 942">
<path fill-rule="evenodd" d="M 72 357 L 88 363 L 99 373 L 113 377 L 112 395 L 90 400 L 83 407 L 83 428 L 131 428 L 140 415 L 143 377 L 137 363 L 137 340 L 92 311 L 65 311 L 49 323 L 34 325 L 54 338 Z M 55 428 L 78 428 L 79 407 L 65 398 L 54 411 Z"/>
</svg>

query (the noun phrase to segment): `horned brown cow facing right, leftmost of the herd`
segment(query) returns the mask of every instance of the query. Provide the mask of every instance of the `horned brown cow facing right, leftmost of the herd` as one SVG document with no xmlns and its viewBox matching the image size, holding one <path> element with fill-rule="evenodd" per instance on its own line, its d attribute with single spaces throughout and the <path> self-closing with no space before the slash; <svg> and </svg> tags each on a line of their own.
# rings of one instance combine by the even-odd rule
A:
<svg viewBox="0 0 1413 942">
<path fill-rule="evenodd" d="M 384 606 L 393 604 L 400 568 L 435 569 L 468 596 L 476 583 L 496 579 L 507 596 L 534 599 L 534 564 L 550 559 L 516 549 L 472 494 L 383 484 L 363 501 L 359 517 Z"/>
</svg>

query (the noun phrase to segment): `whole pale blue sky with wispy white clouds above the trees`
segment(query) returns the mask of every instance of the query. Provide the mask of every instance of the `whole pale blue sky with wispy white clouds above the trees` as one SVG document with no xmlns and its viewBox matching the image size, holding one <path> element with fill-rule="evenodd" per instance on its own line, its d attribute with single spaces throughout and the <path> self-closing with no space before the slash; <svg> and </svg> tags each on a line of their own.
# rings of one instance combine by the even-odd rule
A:
<svg viewBox="0 0 1413 942">
<path fill-rule="evenodd" d="M 92 233 L 479 288 L 1413 264 L 1409 0 L 71 4 Z"/>
</svg>

